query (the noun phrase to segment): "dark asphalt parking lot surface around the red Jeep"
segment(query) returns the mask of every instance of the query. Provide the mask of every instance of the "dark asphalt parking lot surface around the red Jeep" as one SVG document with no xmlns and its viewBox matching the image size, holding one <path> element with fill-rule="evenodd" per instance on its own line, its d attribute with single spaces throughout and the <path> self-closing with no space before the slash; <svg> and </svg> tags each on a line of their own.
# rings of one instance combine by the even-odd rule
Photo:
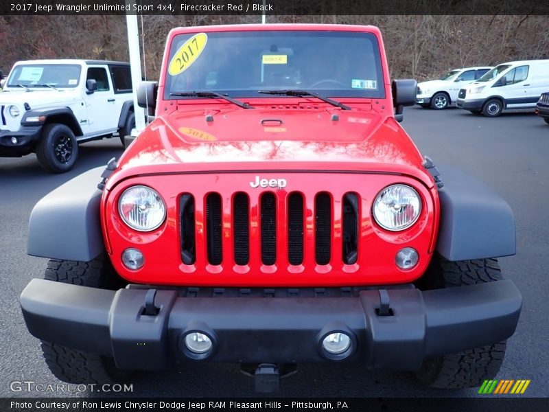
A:
<svg viewBox="0 0 549 412">
<path fill-rule="evenodd" d="M 525 396 L 547 397 L 549 387 L 549 126 L 532 113 L 498 118 L 449 109 L 406 108 L 404 127 L 424 155 L 469 172 L 511 205 L 517 229 L 517 255 L 502 258 L 505 277 L 513 279 L 524 297 L 517 332 L 509 340 L 498 378 L 530 379 Z M 34 204 L 71 177 L 104 165 L 121 154 L 118 139 L 80 146 L 75 168 L 67 174 L 46 174 L 34 155 L 0 158 L 0 396 L 95 396 L 89 391 L 19 391 L 14 381 L 56 385 L 39 343 L 25 328 L 19 295 L 33 277 L 42 277 L 46 260 L 26 255 L 27 222 Z M 444 179 L 444 176 L 442 176 Z M 99 176 L 98 179 L 99 181 Z M 237 365 L 196 363 L 185 370 L 137 375 L 131 396 L 255 396 L 253 380 Z M 112 393 L 100 393 L 109 396 Z M 367 371 L 361 365 L 300 365 L 281 382 L 277 396 L 391 397 L 476 396 L 475 389 L 426 389 L 407 372 Z"/>
</svg>

